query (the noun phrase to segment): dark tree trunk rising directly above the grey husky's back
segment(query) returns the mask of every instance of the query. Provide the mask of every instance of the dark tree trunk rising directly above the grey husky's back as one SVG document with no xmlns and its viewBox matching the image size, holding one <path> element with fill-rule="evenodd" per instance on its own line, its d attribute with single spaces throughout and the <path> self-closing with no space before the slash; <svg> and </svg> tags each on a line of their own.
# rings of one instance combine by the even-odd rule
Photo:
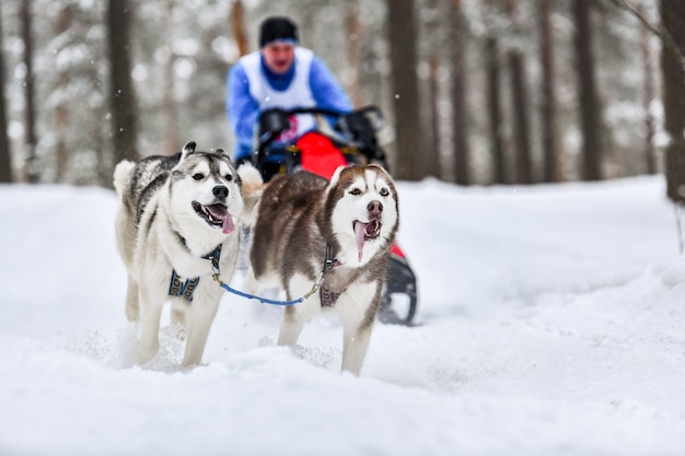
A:
<svg viewBox="0 0 685 456">
<path fill-rule="evenodd" d="M 111 106 L 113 151 L 115 163 L 138 161 L 138 122 L 135 107 L 130 63 L 130 24 L 132 11 L 129 0 L 109 0 L 107 30 L 111 62 Z"/>
</svg>

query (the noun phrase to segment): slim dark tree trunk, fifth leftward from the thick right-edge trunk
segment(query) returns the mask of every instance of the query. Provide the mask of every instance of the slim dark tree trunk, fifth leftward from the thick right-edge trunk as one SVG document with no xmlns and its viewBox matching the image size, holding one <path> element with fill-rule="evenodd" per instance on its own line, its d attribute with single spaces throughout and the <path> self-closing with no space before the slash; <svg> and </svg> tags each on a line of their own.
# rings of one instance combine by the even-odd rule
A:
<svg viewBox="0 0 685 456">
<path fill-rule="evenodd" d="M 502 107 L 501 94 L 499 87 L 500 79 L 500 60 L 499 45 L 497 38 L 490 35 L 485 42 L 485 58 L 487 65 L 488 80 L 488 124 L 490 127 L 490 142 L 492 151 L 492 183 L 507 184 L 507 174 L 504 172 L 504 141 L 502 138 Z"/>
</svg>

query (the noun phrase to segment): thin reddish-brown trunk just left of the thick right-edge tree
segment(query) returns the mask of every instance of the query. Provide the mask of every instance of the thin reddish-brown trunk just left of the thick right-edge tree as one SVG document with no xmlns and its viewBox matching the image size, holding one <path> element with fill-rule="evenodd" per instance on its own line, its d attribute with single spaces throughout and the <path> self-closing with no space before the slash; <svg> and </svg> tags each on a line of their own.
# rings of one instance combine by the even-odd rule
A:
<svg viewBox="0 0 685 456">
<path fill-rule="evenodd" d="M 642 3 L 638 5 L 638 12 L 642 17 L 647 17 L 647 10 Z M 642 48 L 642 61 L 645 63 L 645 93 L 642 105 L 645 106 L 645 168 L 647 174 L 657 173 L 657 161 L 654 159 L 654 116 L 651 105 L 654 101 L 654 68 L 652 66 L 653 50 L 651 46 L 651 34 L 645 24 L 640 24 L 640 42 Z"/>
</svg>

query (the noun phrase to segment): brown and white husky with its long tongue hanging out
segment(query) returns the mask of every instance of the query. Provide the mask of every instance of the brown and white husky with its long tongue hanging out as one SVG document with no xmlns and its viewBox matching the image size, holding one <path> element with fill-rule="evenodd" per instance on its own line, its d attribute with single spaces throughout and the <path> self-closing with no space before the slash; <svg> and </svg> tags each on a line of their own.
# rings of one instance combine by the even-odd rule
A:
<svg viewBox="0 0 685 456">
<path fill-rule="evenodd" d="M 254 222 L 246 284 L 252 293 L 280 287 L 288 300 L 278 343 L 292 346 L 306 321 L 336 313 L 342 324 L 342 371 L 359 375 L 381 305 L 390 248 L 399 224 L 397 191 L 376 165 L 340 167 L 330 182 L 307 172 L 279 176 L 258 188 L 249 165 L 239 169 L 246 214 Z M 249 211 L 248 211 L 249 212 Z"/>
</svg>

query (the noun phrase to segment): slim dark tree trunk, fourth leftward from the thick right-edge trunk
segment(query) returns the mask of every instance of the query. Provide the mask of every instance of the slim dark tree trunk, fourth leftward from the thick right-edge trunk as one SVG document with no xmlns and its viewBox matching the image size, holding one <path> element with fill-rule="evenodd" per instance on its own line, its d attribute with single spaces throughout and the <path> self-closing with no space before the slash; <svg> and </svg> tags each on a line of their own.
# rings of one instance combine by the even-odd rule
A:
<svg viewBox="0 0 685 456">
<path fill-rule="evenodd" d="M 514 34 L 518 33 L 514 0 L 507 1 L 507 10 Z M 533 184 L 533 163 L 531 162 L 531 131 L 529 121 L 527 89 L 523 55 L 511 49 L 507 52 L 511 72 L 511 105 L 513 107 L 513 137 L 516 184 Z"/>
</svg>

